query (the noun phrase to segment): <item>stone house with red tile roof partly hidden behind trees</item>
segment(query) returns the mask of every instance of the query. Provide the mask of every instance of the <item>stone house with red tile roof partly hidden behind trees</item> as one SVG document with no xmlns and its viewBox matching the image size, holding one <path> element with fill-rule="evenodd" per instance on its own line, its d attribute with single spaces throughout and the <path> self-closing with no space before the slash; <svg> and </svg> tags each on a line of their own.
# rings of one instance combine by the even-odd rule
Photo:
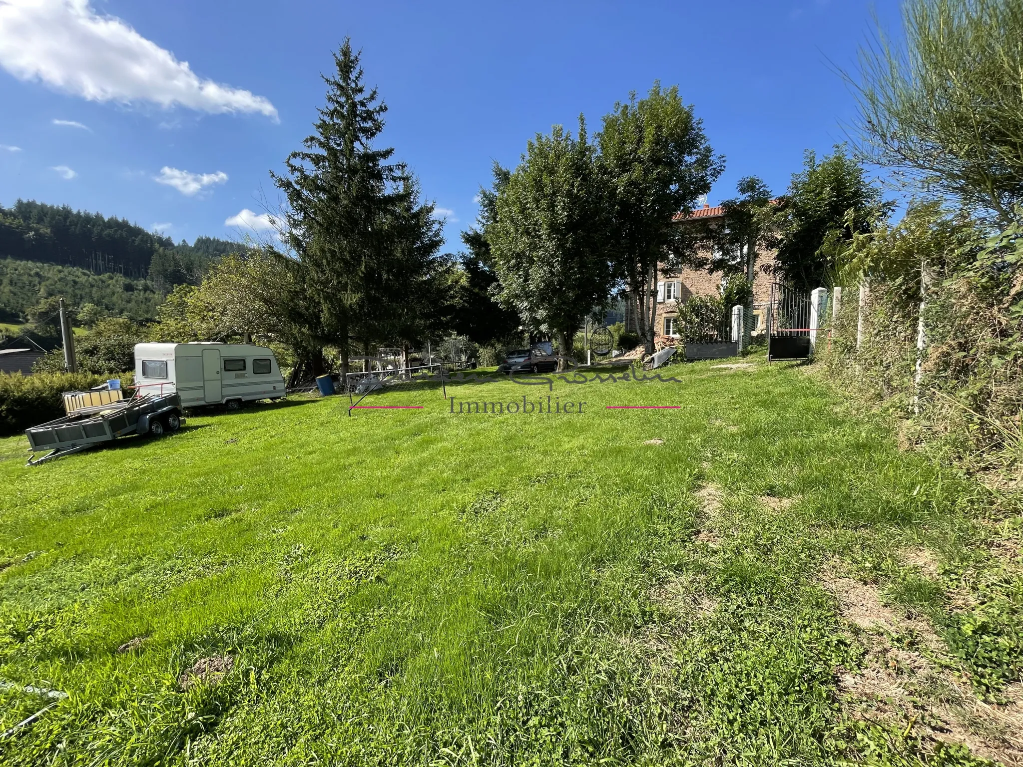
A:
<svg viewBox="0 0 1023 767">
<path fill-rule="evenodd" d="M 720 219 L 724 216 L 724 208 L 711 208 L 705 205 L 690 215 L 676 214 L 674 221 L 678 226 L 685 226 L 691 221 L 707 221 Z M 764 266 L 774 262 L 774 251 L 759 251 L 756 273 L 753 279 L 753 334 L 760 335 L 766 328 L 767 305 L 770 302 L 770 286 L 774 281 Z M 708 273 L 686 267 L 680 271 L 668 270 L 664 265 L 659 268 L 657 284 L 656 343 L 670 345 L 678 336 L 675 318 L 678 307 L 694 296 L 717 296 L 723 275 L 720 272 Z"/>
</svg>

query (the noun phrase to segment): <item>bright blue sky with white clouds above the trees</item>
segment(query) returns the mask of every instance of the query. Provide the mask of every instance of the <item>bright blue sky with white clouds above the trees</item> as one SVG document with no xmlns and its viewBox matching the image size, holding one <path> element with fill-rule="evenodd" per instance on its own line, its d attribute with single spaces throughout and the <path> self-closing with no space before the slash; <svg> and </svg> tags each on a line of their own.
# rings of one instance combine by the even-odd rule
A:
<svg viewBox="0 0 1023 767">
<path fill-rule="evenodd" d="M 711 204 L 745 175 L 781 191 L 804 149 L 843 139 L 853 99 L 832 65 L 854 63 L 872 13 L 897 30 L 896 0 L 0 0 L 0 204 L 240 238 L 276 205 L 268 171 L 310 132 L 345 35 L 448 250 L 494 160 L 580 112 L 596 130 L 655 80 L 726 156 Z"/>
</svg>

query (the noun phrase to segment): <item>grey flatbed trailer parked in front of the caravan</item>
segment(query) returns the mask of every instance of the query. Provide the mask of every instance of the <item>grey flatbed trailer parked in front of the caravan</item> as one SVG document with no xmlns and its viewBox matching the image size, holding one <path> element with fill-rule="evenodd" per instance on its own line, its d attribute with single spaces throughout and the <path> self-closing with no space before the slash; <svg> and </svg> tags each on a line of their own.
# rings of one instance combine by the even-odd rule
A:
<svg viewBox="0 0 1023 767">
<path fill-rule="evenodd" d="M 36 466 L 53 458 L 78 453 L 102 442 L 112 442 L 128 435 L 152 435 L 176 432 L 181 417 L 181 397 L 171 394 L 136 392 L 128 400 L 83 407 L 62 418 L 25 430 L 29 438 L 27 466 Z M 39 458 L 36 453 L 46 452 Z"/>
</svg>

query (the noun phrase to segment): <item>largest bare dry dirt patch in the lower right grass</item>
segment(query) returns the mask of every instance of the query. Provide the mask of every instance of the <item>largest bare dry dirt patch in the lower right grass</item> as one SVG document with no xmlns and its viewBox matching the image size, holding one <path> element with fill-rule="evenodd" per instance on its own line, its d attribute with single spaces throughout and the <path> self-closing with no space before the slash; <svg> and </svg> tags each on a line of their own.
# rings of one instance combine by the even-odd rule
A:
<svg viewBox="0 0 1023 767">
<path fill-rule="evenodd" d="M 896 615 L 870 584 L 829 577 L 825 585 L 866 647 L 862 668 L 837 669 L 847 716 L 911 731 L 932 747 L 962 743 L 984 759 L 1023 767 L 1021 685 L 1006 691 L 1006 705 L 983 703 L 929 626 Z"/>
</svg>

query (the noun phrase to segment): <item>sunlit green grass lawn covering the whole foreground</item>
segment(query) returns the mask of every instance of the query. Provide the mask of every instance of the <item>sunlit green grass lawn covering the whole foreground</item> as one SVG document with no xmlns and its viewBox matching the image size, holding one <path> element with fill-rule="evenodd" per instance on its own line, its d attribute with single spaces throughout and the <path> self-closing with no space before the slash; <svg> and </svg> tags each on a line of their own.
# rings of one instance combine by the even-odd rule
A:
<svg viewBox="0 0 1023 767">
<path fill-rule="evenodd" d="M 1017 763 L 1010 500 L 803 368 L 668 370 L 0 440 L 0 730 L 69 695 L 0 764 Z"/>
</svg>

